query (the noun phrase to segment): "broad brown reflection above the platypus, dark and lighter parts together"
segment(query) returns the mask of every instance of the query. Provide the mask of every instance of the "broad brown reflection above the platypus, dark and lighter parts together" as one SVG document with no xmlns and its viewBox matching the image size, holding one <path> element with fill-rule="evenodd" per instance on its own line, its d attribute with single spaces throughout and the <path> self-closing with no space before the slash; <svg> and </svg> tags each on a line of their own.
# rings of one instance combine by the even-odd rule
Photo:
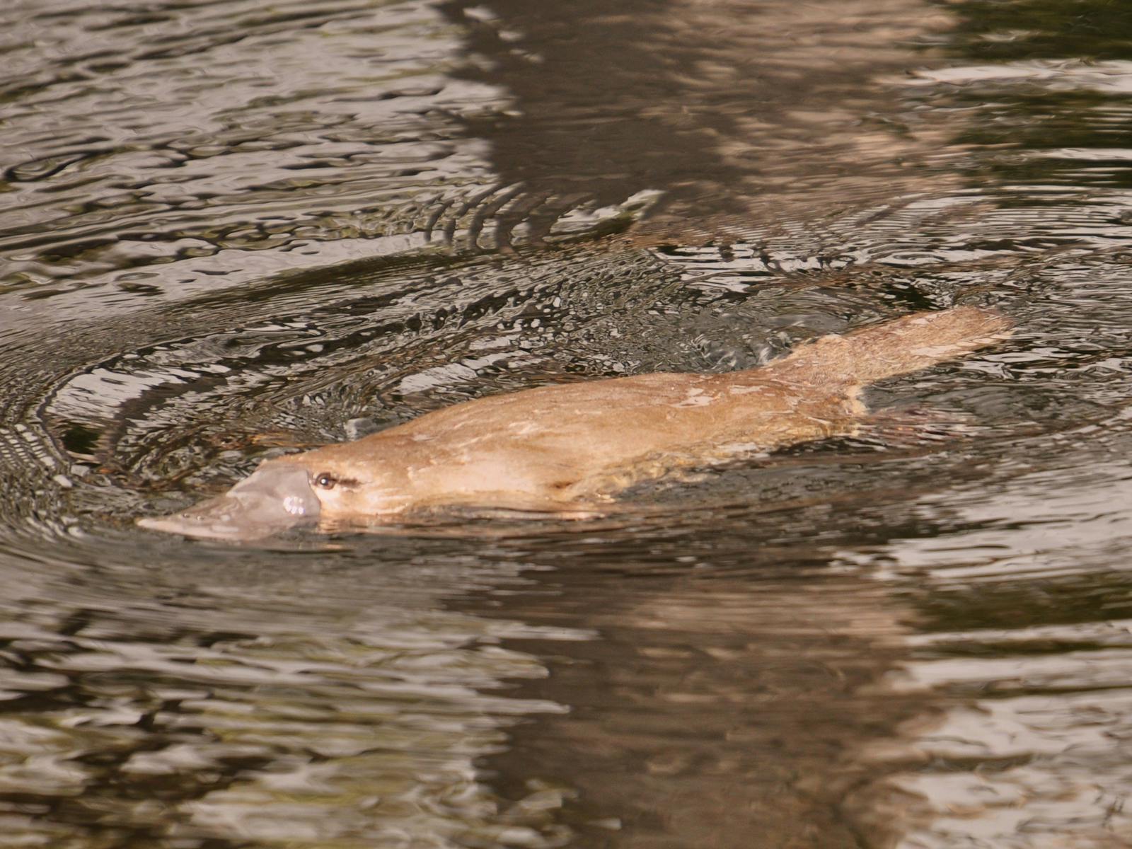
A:
<svg viewBox="0 0 1132 849">
<path fill-rule="evenodd" d="M 887 6 L 443 3 L 466 33 L 456 76 L 509 100 L 460 119 L 490 142 L 511 192 L 488 209 L 499 243 L 521 222 L 541 238 L 580 205 L 616 206 L 643 191 L 660 194 L 649 215 L 685 235 L 712 218 L 773 220 L 773 197 L 822 191 L 846 175 L 830 157 L 850 151 L 856 174 L 901 181 L 899 121 L 871 140 L 884 125 L 871 121 L 892 108 L 871 80 L 910 60 L 903 40 L 931 14 L 912 1 Z M 815 117 L 825 125 L 818 136 Z"/>
</svg>

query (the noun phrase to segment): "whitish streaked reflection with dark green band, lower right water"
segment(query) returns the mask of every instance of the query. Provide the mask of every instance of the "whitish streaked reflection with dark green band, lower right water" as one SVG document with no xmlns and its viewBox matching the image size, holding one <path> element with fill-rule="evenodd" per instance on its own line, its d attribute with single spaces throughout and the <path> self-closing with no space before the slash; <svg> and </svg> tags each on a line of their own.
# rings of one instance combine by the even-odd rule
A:
<svg viewBox="0 0 1132 849">
<path fill-rule="evenodd" d="M 1065 468 L 1022 474 L 993 501 L 972 494 L 932 537 L 878 552 L 881 573 L 924 616 L 908 640 L 914 660 L 891 684 L 943 709 L 884 753 L 929 815 L 909 844 L 954 846 L 972 820 L 987 846 L 1110 847 L 1132 834 L 1120 744 L 1132 660 L 1127 448 L 1125 428 L 1100 449 L 1108 464 L 1075 448 Z M 919 506 L 926 522 L 937 503 Z"/>
</svg>

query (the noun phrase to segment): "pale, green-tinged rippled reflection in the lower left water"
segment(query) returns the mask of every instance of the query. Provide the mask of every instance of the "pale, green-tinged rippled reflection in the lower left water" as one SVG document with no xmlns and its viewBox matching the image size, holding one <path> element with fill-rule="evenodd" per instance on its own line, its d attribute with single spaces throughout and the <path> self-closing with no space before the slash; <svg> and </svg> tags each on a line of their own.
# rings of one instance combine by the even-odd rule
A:
<svg viewBox="0 0 1132 849">
<path fill-rule="evenodd" d="M 204 552 L 12 588 L 8 833 L 49 846 L 490 834 L 473 758 L 516 717 L 563 710 L 491 692 L 544 674 L 499 643 L 588 635 L 438 609 L 443 590 L 507 586 L 515 571 L 417 550 L 379 582 L 349 558 Z M 543 820 L 515 827 L 552 831 Z"/>
</svg>

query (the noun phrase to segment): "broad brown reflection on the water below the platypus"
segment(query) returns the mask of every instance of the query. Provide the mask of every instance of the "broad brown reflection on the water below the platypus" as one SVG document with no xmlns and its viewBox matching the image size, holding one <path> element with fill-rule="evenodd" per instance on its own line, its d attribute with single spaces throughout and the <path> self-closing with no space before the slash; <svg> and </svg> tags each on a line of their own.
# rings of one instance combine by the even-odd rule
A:
<svg viewBox="0 0 1132 849">
<path fill-rule="evenodd" d="M 569 710 L 526 718 L 481 758 L 503 811 L 558 794 L 585 847 L 883 844 L 893 764 L 871 746 L 931 709 L 884 686 L 907 659 L 907 614 L 885 588 L 821 544 L 773 544 L 817 514 L 731 508 L 499 547 L 533 567 L 531 585 L 452 609 L 594 634 L 504 643 L 548 670 L 509 692 Z M 850 533 L 852 516 L 826 532 Z"/>
</svg>

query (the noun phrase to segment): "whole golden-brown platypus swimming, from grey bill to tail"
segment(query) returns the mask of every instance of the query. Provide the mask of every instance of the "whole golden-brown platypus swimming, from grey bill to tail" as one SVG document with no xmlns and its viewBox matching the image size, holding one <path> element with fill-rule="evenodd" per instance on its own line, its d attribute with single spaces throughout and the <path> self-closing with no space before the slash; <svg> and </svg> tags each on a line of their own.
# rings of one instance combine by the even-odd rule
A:
<svg viewBox="0 0 1132 849">
<path fill-rule="evenodd" d="M 992 309 L 916 312 L 823 336 L 762 368 L 649 374 L 466 401 L 352 443 L 264 461 L 226 494 L 143 528 L 248 540 L 301 522 L 471 506 L 577 513 L 634 482 L 854 432 L 864 386 L 1009 335 Z"/>
</svg>

